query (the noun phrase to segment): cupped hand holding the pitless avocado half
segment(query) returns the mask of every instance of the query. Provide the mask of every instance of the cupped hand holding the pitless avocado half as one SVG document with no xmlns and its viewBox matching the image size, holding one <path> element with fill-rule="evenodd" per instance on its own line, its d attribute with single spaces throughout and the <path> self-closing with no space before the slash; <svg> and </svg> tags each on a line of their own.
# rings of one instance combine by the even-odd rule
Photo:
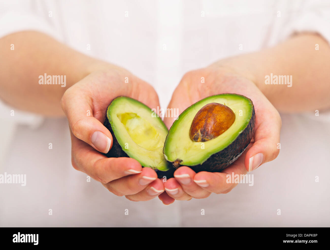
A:
<svg viewBox="0 0 330 250">
<path fill-rule="evenodd" d="M 150 108 L 159 106 L 152 86 L 113 65 L 94 71 L 65 91 L 61 106 L 70 125 L 72 165 L 117 196 L 148 201 L 164 192 L 156 172 L 142 168 L 135 159 L 108 158 L 102 154 L 112 147 L 113 138 L 103 126 L 103 120 L 109 104 L 117 96 L 134 98 Z"/>
</svg>

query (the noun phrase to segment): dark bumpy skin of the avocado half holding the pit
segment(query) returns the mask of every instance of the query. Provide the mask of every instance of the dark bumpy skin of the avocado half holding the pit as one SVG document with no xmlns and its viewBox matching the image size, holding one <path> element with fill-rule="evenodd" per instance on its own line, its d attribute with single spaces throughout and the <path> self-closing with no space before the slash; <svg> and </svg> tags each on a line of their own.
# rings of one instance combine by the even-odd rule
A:
<svg viewBox="0 0 330 250">
<path fill-rule="evenodd" d="M 228 167 L 244 152 L 250 143 L 255 125 L 255 112 L 254 107 L 248 126 L 243 132 L 233 141 L 228 147 L 224 148 L 220 152 L 211 155 L 203 164 L 188 166 L 195 172 L 208 171 L 208 172 L 221 172 Z M 173 162 L 172 162 L 173 164 Z M 179 168 L 184 165 L 173 164 L 173 167 Z"/>
</svg>

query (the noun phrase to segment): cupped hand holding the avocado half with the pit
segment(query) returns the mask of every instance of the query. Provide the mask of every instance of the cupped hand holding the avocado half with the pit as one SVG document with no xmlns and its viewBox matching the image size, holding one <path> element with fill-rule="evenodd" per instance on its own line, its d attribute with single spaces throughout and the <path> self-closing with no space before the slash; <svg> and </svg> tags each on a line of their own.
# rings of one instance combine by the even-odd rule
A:
<svg viewBox="0 0 330 250">
<path fill-rule="evenodd" d="M 222 172 L 194 172 L 182 166 L 174 178 L 164 183 L 166 193 L 176 200 L 207 198 L 211 193 L 225 194 L 237 183 L 227 183 L 227 174 L 246 174 L 263 163 L 274 160 L 280 143 L 281 117 L 258 87 L 238 72 L 216 65 L 188 72 L 173 93 L 168 108 L 178 108 L 179 113 L 197 101 L 215 94 L 235 93 L 247 96 L 254 104 L 254 136 L 244 153 Z M 175 118 L 165 118 L 170 127 Z M 165 195 L 163 195 L 166 198 Z M 162 196 L 159 197 L 162 200 Z M 163 200 L 163 203 L 166 203 Z"/>
</svg>

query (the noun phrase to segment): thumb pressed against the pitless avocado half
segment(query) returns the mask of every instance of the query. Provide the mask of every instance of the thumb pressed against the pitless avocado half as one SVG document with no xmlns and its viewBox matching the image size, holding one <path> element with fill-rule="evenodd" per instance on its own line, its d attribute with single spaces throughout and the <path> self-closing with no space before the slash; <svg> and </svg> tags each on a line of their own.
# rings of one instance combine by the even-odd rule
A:
<svg viewBox="0 0 330 250">
<path fill-rule="evenodd" d="M 83 93 L 80 95 L 79 91 L 73 92 L 68 89 L 62 97 L 61 106 L 75 137 L 102 153 L 109 152 L 113 142 L 112 135 L 103 125 L 103 121 L 93 116 L 90 98 Z"/>
</svg>

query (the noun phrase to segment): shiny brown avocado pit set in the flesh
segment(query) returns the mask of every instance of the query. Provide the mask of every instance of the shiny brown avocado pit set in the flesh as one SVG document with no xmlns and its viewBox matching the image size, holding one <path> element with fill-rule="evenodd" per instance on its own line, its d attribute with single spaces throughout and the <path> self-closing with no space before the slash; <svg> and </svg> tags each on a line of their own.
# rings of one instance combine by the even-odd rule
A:
<svg viewBox="0 0 330 250">
<path fill-rule="evenodd" d="M 189 137 L 192 141 L 210 141 L 223 134 L 235 121 L 235 113 L 228 106 L 209 103 L 192 120 Z"/>
</svg>

